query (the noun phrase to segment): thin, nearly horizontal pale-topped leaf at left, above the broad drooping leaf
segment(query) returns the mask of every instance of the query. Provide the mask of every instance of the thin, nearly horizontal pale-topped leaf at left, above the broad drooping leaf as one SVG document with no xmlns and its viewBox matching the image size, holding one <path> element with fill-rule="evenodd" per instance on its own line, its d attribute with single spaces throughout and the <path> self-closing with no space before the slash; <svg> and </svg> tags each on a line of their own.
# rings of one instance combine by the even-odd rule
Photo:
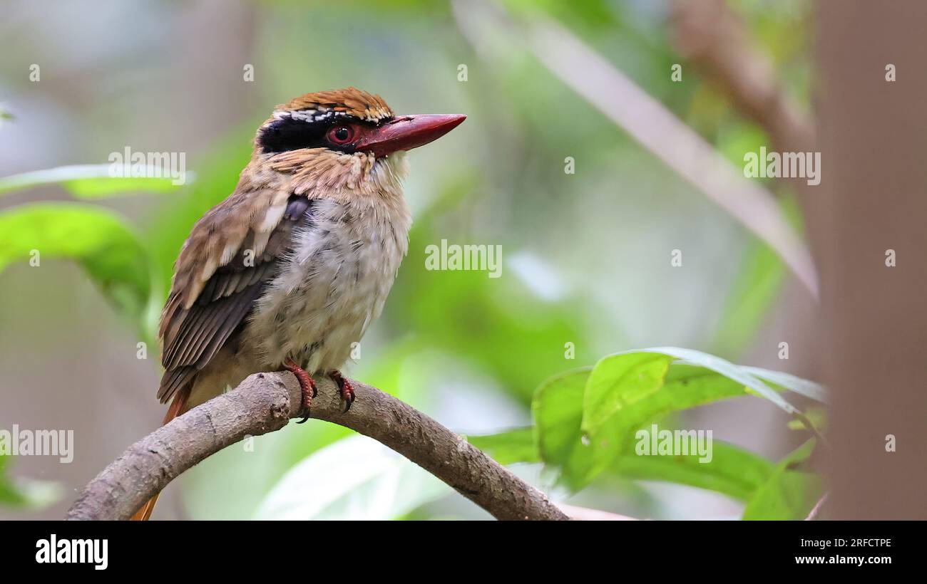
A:
<svg viewBox="0 0 927 584">
<path fill-rule="evenodd" d="M 144 169 L 146 177 L 114 177 L 110 174 L 110 165 L 108 164 L 45 168 L 0 178 L 0 193 L 21 191 L 43 184 L 60 183 L 75 197 L 99 199 L 114 194 L 133 192 L 169 193 L 183 186 L 173 184 L 170 177 L 149 178 L 157 177 L 161 173 L 162 169 L 159 167 L 146 167 Z M 187 171 L 184 183 L 189 183 L 195 178 L 193 172 Z"/>
</svg>

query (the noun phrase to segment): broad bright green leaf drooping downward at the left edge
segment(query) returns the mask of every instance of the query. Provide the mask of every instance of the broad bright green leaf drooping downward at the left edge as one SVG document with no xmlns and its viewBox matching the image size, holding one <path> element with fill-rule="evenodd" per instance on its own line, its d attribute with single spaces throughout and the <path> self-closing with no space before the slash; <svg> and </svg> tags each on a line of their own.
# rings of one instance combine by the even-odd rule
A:
<svg viewBox="0 0 927 584">
<path fill-rule="evenodd" d="M 0 213 L 0 271 L 35 257 L 40 266 L 51 258 L 79 262 L 130 314 L 141 314 L 146 305 L 151 283 L 146 251 L 126 221 L 108 209 L 38 203 Z"/>
</svg>

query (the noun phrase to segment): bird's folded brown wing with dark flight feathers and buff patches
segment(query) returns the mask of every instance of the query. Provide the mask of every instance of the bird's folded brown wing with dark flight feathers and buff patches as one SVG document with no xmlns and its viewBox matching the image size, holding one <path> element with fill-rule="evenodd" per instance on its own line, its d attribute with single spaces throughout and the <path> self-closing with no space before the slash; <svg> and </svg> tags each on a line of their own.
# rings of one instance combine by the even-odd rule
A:
<svg viewBox="0 0 927 584">
<path fill-rule="evenodd" d="M 310 200 L 290 193 L 235 193 L 197 221 L 161 315 L 161 403 L 189 387 L 245 322 L 310 211 Z"/>
</svg>

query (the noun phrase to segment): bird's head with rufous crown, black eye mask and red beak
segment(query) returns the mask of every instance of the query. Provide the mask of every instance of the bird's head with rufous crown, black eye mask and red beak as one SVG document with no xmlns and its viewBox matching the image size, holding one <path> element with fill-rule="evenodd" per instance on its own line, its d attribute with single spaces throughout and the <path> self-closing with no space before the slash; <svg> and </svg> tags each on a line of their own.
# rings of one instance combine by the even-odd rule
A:
<svg viewBox="0 0 927 584">
<path fill-rule="evenodd" d="M 292 193 L 398 190 L 402 153 L 437 140 L 466 116 L 397 116 L 379 95 L 349 87 L 277 106 L 255 138 L 254 160 L 291 180 Z"/>
</svg>

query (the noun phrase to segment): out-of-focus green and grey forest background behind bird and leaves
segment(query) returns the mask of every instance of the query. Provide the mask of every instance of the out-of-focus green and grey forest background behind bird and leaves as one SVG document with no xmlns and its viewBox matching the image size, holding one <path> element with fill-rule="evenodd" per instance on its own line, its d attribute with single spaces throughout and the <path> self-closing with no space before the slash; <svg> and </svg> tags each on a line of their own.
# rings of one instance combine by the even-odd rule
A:
<svg viewBox="0 0 927 584">
<path fill-rule="evenodd" d="M 782 91 L 809 108 L 808 4 L 733 5 Z M 186 153 L 192 184 L 90 202 L 126 217 L 150 258 L 152 294 L 163 298 L 185 235 L 232 192 L 273 106 L 353 85 L 400 113 L 468 119 L 410 155 L 410 253 L 350 376 L 467 434 L 529 424 L 544 379 L 628 349 L 688 347 L 816 379 L 806 350 L 814 299 L 779 255 L 545 66 L 521 32 L 538 23 L 569 31 L 742 168 L 744 152 L 769 146 L 768 129 L 680 56 L 673 10 L 642 0 L 7 0 L 0 103 L 10 118 L 0 120 L 0 177 L 104 164 L 126 146 Z M 32 64 L 41 81 L 30 81 Z M 674 64 L 681 81 L 671 79 Z M 244 80 L 247 65 L 254 81 Z M 674 147 L 671 135 L 663 147 Z M 798 227 L 789 185 L 756 182 Z M 73 198 L 60 184 L 39 185 L 0 194 L 0 210 Z M 425 270 L 425 246 L 442 239 L 502 245 L 502 278 Z M 682 267 L 670 265 L 674 249 Z M 5 472 L 31 494 L 28 503 L 0 504 L 0 517 L 63 516 L 89 479 L 159 424 L 159 359 L 147 326 L 70 261 L 13 262 L 0 273 L 0 428 L 73 429 L 76 441 L 70 465 L 6 459 Z M 138 342 L 149 343 L 146 359 L 137 358 Z M 790 345 L 787 360 L 781 342 Z M 680 420 L 771 460 L 804 441 L 787 422 L 754 398 Z M 314 466 L 281 487 L 313 454 Z M 410 466 L 349 430 L 290 425 L 186 473 L 155 517 L 267 516 L 273 496 L 286 499 L 281 490 L 290 489 L 319 501 L 297 516 L 489 518 Z M 622 515 L 733 518 L 743 510 L 717 492 L 616 475 L 570 493 L 540 465 L 513 468 L 558 501 Z"/>
</svg>

